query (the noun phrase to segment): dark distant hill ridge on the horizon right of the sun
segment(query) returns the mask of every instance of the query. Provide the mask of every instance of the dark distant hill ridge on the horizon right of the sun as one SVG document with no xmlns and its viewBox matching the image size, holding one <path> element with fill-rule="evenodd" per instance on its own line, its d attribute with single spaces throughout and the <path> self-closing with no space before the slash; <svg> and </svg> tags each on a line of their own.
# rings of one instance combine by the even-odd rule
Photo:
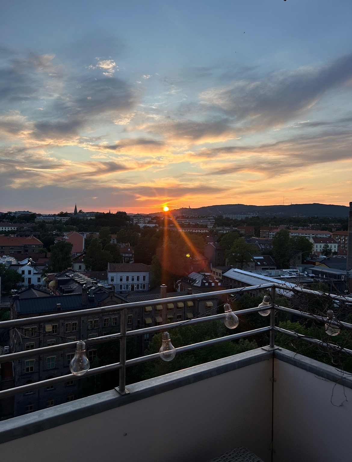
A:
<svg viewBox="0 0 352 462">
<path fill-rule="evenodd" d="M 333 204 L 291 204 L 291 205 L 245 205 L 224 204 L 199 208 L 179 208 L 171 210 L 174 216 L 217 216 L 254 213 L 260 217 L 348 217 L 349 208 Z M 150 215 L 162 215 L 150 213 Z"/>
</svg>

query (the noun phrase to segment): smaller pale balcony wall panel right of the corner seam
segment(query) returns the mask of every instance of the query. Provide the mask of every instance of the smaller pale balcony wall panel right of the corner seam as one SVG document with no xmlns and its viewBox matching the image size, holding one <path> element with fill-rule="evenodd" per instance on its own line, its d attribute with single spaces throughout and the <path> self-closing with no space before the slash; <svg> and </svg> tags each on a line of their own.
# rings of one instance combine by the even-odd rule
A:
<svg viewBox="0 0 352 462">
<path fill-rule="evenodd" d="M 274 371 L 274 462 L 351 461 L 352 389 L 278 359 Z"/>
</svg>

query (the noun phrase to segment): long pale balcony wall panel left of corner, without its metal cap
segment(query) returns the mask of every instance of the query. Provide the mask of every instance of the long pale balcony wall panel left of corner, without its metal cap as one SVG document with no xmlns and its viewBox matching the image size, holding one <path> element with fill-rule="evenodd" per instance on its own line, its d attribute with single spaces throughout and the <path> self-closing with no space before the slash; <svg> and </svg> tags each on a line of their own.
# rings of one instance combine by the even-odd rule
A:
<svg viewBox="0 0 352 462">
<path fill-rule="evenodd" d="M 271 370 L 268 359 L 16 439 L 1 460 L 208 462 L 244 445 L 269 462 Z"/>
</svg>

